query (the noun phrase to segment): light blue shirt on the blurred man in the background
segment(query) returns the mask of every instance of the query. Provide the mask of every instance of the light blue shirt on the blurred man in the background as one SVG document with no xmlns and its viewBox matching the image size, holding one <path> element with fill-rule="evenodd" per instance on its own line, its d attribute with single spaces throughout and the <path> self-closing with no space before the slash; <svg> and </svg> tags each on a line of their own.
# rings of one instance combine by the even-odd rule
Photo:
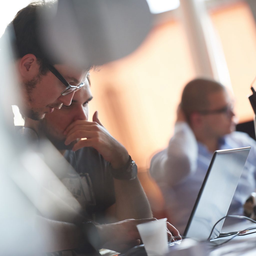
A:
<svg viewBox="0 0 256 256">
<path fill-rule="evenodd" d="M 219 141 L 220 150 L 247 146 L 251 147 L 251 151 L 229 214 L 242 214 L 244 202 L 255 191 L 256 142 L 242 132 L 232 132 Z M 212 155 L 213 152 L 209 152 L 205 145 L 196 141 L 188 124 L 177 123 L 169 146 L 151 160 L 150 173 L 163 191 L 169 221 L 181 234 L 186 228 Z"/>
</svg>

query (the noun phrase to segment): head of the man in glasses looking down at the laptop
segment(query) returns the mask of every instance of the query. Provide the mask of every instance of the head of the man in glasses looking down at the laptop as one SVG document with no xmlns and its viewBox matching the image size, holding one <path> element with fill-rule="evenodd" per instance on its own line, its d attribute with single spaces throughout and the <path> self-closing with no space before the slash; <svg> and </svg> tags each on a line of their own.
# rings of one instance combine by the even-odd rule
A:
<svg viewBox="0 0 256 256">
<path fill-rule="evenodd" d="M 21 9 L 8 25 L 13 31 L 13 48 L 20 92 L 20 111 L 34 120 L 43 119 L 61 106 L 70 105 L 74 92 L 84 85 L 91 67 L 78 69 L 46 56 L 38 38 L 37 13 L 54 8 L 54 3 L 31 3 Z M 17 104 L 14 102 L 14 104 Z"/>
</svg>

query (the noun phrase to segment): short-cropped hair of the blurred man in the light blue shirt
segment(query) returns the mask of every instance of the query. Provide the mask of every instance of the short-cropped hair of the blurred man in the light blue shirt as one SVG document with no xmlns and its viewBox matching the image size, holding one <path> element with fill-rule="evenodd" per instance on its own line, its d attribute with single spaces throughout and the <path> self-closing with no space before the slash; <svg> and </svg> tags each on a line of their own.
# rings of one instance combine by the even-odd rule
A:
<svg viewBox="0 0 256 256">
<path fill-rule="evenodd" d="M 180 104 L 187 121 L 190 122 L 191 113 L 207 109 L 209 94 L 221 90 L 226 90 L 221 83 L 206 78 L 197 78 L 187 83 Z"/>
</svg>

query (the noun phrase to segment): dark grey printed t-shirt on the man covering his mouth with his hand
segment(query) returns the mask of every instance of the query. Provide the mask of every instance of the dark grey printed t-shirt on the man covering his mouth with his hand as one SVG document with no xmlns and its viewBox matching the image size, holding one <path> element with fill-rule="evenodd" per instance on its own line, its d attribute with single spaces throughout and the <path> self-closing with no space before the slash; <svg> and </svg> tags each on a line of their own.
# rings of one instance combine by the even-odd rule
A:
<svg viewBox="0 0 256 256">
<path fill-rule="evenodd" d="M 115 203 L 113 177 L 108 162 L 92 147 L 84 147 L 76 152 L 66 151 L 64 157 L 76 173 L 67 172 L 61 177 L 62 183 L 78 200 L 89 219 L 104 223 L 105 210 Z"/>
</svg>

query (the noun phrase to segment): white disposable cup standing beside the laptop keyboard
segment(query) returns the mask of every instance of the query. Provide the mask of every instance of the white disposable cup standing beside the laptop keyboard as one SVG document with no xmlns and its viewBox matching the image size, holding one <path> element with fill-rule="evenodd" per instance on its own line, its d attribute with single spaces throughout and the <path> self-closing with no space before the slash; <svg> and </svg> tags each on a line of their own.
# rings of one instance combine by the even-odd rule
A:
<svg viewBox="0 0 256 256">
<path fill-rule="evenodd" d="M 148 256 L 163 255 L 168 252 L 167 218 L 137 225 Z"/>
</svg>

